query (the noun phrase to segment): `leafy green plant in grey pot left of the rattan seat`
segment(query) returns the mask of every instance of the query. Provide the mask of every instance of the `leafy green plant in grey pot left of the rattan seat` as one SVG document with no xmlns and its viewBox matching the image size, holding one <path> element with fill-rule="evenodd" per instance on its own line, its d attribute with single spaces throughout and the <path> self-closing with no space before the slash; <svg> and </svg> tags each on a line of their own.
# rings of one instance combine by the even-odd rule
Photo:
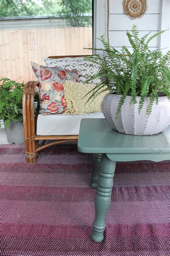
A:
<svg viewBox="0 0 170 256">
<path fill-rule="evenodd" d="M 24 84 L 0 79 L 0 119 L 4 120 L 8 143 L 23 144 L 22 97 Z"/>
</svg>

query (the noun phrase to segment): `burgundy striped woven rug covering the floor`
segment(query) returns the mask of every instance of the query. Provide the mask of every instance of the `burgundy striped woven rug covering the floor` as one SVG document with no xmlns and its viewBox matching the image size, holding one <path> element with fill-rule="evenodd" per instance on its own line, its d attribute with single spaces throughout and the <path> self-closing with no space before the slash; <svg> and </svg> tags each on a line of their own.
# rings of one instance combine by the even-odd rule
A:
<svg viewBox="0 0 170 256">
<path fill-rule="evenodd" d="M 105 238 L 95 243 L 91 154 L 60 145 L 30 164 L 23 145 L 0 153 L 1 255 L 168 255 L 168 161 L 117 163 Z"/>
</svg>

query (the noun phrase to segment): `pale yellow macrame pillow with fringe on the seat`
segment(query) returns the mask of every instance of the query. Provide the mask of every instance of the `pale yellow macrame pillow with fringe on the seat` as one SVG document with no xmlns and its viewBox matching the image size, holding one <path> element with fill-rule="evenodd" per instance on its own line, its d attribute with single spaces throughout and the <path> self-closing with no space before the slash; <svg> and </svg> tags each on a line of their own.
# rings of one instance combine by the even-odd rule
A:
<svg viewBox="0 0 170 256">
<path fill-rule="evenodd" d="M 82 82 L 65 81 L 64 87 L 64 98 L 66 99 L 67 109 L 63 114 L 85 114 L 101 111 L 101 101 L 103 97 L 109 92 L 104 91 L 99 94 L 93 101 L 86 103 L 90 97 L 90 94 L 84 97 L 95 84 L 84 84 Z M 84 97 L 84 98 L 83 98 Z"/>
</svg>

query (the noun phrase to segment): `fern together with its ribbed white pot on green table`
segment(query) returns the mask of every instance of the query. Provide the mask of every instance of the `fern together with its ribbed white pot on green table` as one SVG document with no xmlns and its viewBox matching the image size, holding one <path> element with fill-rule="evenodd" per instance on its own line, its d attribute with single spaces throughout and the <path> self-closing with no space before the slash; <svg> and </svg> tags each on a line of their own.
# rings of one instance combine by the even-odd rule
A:
<svg viewBox="0 0 170 256">
<path fill-rule="evenodd" d="M 114 130 L 133 135 L 152 135 L 170 124 L 170 51 L 164 56 L 160 50 L 150 50 L 148 43 L 161 31 L 139 38 L 137 26 L 126 32 L 132 53 L 126 46 L 121 51 L 110 46 L 104 36 L 99 39 L 106 58 L 99 54 L 86 57 L 101 63 L 96 77 L 105 77 L 90 92 L 89 100 L 109 89 L 102 101 L 102 111 Z M 107 87 L 106 87 L 107 86 Z"/>
</svg>

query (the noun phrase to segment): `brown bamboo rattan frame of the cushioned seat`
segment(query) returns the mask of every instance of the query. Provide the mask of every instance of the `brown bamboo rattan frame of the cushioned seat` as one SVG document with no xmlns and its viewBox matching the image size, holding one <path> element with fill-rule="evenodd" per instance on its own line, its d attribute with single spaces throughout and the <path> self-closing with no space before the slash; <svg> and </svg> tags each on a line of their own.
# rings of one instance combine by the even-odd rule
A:
<svg viewBox="0 0 170 256">
<path fill-rule="evenodd" d="M 86 57 L 89 55 L 70 55 L 70 56 L 50 56 L 48 58 L 58 59 L 66 57 Z M 79 135 L 61 135 L 61 136 L 43 136 L 37 135 L 37 117 L 34 118 L 34 95 L 38 81 L 29 81 L 25 84 L 23 90 L 23 124 L 24 124 L 24 144 L 27 163 L 36 163 L 38 152 L 44 148 L 64 142 L 77 142 Z M 42 140 L 39 145 L 39 140 Z M 46 140 L 57 140 L 46 145 Z"/>
</svg>

